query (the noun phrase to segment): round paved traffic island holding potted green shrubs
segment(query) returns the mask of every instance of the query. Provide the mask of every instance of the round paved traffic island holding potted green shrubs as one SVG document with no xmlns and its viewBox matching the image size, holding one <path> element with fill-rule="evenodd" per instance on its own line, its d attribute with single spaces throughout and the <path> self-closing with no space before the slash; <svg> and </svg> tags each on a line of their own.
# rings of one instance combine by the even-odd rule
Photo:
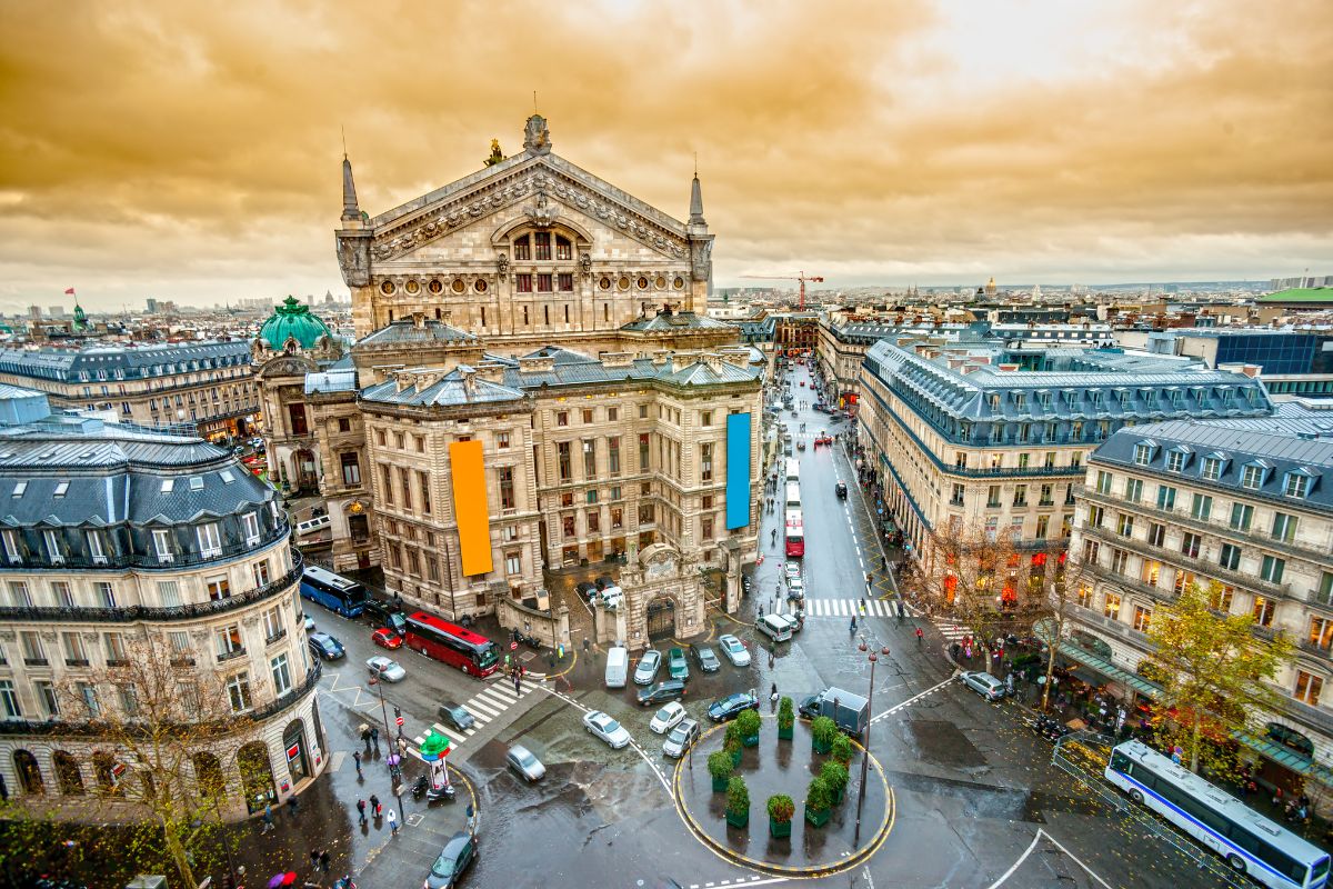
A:
<svg viewBox="0 0 1333 889">
<path fill-rule="evenodd" d="M 830 754 L 813 752 L 810 722 L 797 720 L 792 738 L 778 738 L 778 722 L 772 716 L 761 720 L 758 744 L 744 746 L 733 776 L 744 780 L 748 790 L 745 817 L 728 812 L 728 793 L 714 790 L 708 758 L 722 750 L 728 722 L 714 725 L 694 742 L 689 754 L 676 764 L 672 794 L 676 809 L 689 832 L 716 856 L 734 865 L 781 877 L 828 877 L 850 870 L 878 852 L 893 829 L 893 789 L 878 761 L 852 741 L 850 778 L 837 802 L 825 814 L 816 810 L 805 817 L 806 794 L 813 778 L 820 777 Z M 861 809 L 861 842 L 856 845 L 857 796 L 861 781 L 861 757 L 869 756 L 865 802 Z M 768 801 L 786 794 L 794 813 L 785 829 L 789 836 L 773 836 Z M 745 826 L 733 824 L 745 822 Z M 822 822 L 822 824 L 816 824 Z M 782 825 L 776 828 L 782 832 Z"/>
</svg>

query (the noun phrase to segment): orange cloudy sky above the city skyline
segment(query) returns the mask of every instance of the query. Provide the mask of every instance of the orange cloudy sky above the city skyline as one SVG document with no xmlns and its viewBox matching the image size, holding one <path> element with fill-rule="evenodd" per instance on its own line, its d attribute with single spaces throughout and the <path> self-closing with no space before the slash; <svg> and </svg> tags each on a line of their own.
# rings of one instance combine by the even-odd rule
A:
<svg viewBox="0 0 1333 889">
<path fill-rule="evenodd" d="M 684 219 L 720 285 L 1333 273 L 1329 0 L 0 0 L 0 308 L 345 292 L 372 215 L 519 149 Z"/>
</svg>

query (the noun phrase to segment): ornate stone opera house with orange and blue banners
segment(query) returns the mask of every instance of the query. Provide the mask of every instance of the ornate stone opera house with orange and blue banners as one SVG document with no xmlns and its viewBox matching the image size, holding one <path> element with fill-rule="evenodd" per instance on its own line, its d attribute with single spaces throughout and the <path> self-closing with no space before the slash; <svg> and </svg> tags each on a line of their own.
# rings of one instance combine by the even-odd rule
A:
<svg viewBox="0 0 1333 889">
<path fill-rule="evenodd" d="M 261 337 L 271 458 L 327 501 L 333 568 L 413 606 L 555 645 L 584 605 L 553 576 L 605 573 L 627 606 L 599 638 L 694 636 L 756 557 L 765 356 L 706 313 L 697 176 L 681 223 L 551 145 L 533 115 L 519 155 L 375 217 L 344 159 L 357 340 Z"/>
</svg>

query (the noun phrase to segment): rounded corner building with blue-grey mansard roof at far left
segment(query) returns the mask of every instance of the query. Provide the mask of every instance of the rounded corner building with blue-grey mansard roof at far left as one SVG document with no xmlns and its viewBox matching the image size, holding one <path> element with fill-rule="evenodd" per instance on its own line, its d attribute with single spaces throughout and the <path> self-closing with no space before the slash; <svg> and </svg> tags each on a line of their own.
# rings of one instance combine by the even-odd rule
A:
<svg viewBox="0 0 1333 889">
<path fill-rule="evenodd" d="M 224 788 L 219 814 L 263 810 L 323 770 L 303 562 L 272 488 L 196 436 L 52 415 L 45 395 L 3 387 L 0 492 L 8 798 L 63 817 L 137 817 L 151 778 L 84 729 L 143 713 L 140 690 L 108 677 L 145 645 L 169 657 L 167 674 L 219 689 L 224 726 L 237 718 L 235 733 L 191 750 L 179 776 Z"/>
</svg>

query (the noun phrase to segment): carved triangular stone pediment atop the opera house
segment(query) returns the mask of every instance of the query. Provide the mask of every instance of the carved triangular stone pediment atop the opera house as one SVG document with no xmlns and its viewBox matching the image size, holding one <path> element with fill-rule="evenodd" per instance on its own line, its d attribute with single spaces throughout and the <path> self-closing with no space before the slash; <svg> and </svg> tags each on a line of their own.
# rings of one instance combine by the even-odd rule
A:
<svg viewBox="0 0 1333 889">
<path fill-rule="evenodd" d="M 684 223 L 557 155 L 507 159 L 376 216 L 372 256 L 379 263 L 396 260 L 515 205 L 537 224 L 556 215 L 597 220 L 668 259 L 689 256 Z"/>
</svg>

